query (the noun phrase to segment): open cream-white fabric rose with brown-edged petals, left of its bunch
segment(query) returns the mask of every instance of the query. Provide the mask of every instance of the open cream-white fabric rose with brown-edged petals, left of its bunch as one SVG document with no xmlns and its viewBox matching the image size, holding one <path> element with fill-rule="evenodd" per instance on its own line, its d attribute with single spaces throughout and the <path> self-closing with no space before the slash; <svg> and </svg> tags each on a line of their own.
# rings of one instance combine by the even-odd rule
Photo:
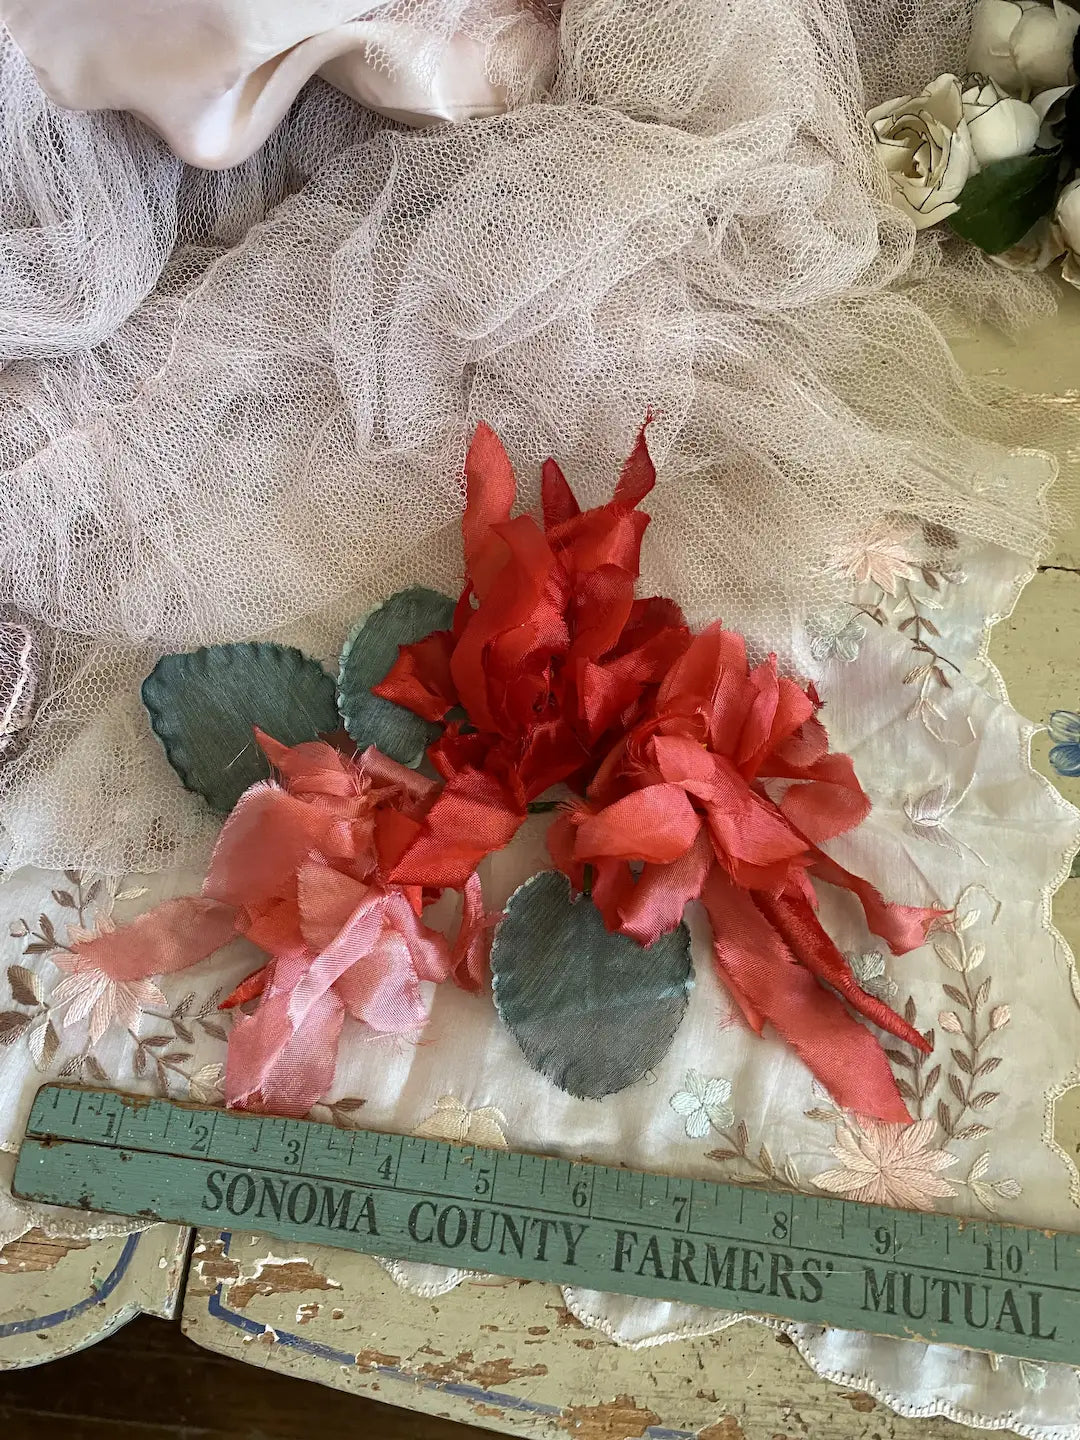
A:
<svg viewBox="0 0 1080 1440">
<path fill-rule="evenodd" d="M 923 230 L 959 210 L 956 200 L 978 170 L 960 82 L 939 75 L 922 95 L 904 95 L 867 115 L 893 203 Z"/>
</svg>

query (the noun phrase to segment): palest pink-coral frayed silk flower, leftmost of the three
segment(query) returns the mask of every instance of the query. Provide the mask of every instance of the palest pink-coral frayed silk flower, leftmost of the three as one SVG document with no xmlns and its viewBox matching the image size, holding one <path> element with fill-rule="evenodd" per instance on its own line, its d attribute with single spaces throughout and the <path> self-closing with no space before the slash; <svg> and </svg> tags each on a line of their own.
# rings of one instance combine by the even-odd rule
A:
<svg viewBox="0 0 1080 1440">
<path fill-rule="evenodd" d="M 480 880 L 465 884 L 454 946 L 419 919 L 419 887 L 387 884 L 439 786 L 377 750 L 359 759 L 256 732 L 279 776 L 240 796 L 215 847 L 202 896 L 167 900 L 78 958 L 114 979 L 184 969 L 236 936 L 271 956 L 222 1008 L 258 996 L 232 1028 L 228 1104 L 307 1115 L 334 1077 L 346 1014 L 374 1031 L 426 1020 L 422 981 L 480 989 L 490 917 Z"/>
</svg>

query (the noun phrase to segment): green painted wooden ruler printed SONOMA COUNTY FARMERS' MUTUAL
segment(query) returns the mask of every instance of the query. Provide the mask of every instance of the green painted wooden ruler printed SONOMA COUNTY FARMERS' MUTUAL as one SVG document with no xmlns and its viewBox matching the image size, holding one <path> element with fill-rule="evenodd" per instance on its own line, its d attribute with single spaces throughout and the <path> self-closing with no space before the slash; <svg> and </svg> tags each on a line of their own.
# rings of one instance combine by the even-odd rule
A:
<svg viewBox="0 0 1080 1440">
<path fill-rule="evenodd" d="M 46 1084 L 26 1200 L 1080 1362 L 1080 1236 Z"/>
</svg>

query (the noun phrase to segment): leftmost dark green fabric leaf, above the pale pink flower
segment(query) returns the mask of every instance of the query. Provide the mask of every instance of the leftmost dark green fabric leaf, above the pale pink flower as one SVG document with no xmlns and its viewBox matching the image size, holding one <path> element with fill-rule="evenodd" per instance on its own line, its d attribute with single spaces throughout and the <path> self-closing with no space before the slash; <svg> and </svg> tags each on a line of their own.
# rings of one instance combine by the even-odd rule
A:
<svg viewBox="0 0 1080 1440">
<path fill-rule="evenodd" d="M 163 655 L 143 681 L 143 704 L 176 773 L 222 814 L 271 773 L 253 726 L 300 744 L 341 724 L 333 678 L 288 645 Z"/>
</svg>

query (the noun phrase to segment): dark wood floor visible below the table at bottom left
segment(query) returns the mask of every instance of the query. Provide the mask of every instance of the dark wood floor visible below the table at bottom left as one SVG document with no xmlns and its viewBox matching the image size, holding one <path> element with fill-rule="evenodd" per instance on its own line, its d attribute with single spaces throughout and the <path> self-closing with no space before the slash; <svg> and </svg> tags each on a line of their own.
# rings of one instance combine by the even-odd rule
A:
<svg viewBox="0 0 1080 1440">
<path fill-rule="evenodd" d="M 138 1316 L 66 1359 L 0 1372 L 3 1440 L 491 1440 L 215 1355 Z"/>
</svg>

